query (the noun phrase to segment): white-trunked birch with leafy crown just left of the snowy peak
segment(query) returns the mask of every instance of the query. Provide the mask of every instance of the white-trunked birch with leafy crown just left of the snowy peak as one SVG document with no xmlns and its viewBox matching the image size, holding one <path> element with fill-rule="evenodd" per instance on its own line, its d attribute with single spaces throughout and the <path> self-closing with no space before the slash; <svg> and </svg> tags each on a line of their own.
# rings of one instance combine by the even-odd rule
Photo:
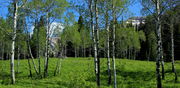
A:
<svg viewBox="0 0 180 88">
<path fill-rule="evenodd" d="M 44 77 L 48 76 L 48 64 L 49 64 L 49 38 L 50 38 L 50 25 L 55 19 L 61 19 L 62 13 L 65 11 L 68 3 L 66 0 L 46 0 L 43 3 L 44 15 L 46 16 L 46 52 L 44 63 Z"/>
</svg>

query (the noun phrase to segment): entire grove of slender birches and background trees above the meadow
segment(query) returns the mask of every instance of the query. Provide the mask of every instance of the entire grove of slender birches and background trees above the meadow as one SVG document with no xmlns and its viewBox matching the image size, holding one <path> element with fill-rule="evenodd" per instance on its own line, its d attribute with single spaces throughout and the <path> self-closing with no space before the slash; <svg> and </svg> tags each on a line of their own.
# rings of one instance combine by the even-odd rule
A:
<svg viewBox="0 0 180 88">
<path fill-rule="evenodd" d="M 121 18 L 137 2 L 143 6 L 145 23 L 133 26 Z M 21 59 L 27 59 L 30 77 L 35 70 L 36 76 L 46 78 L 51 57 L 94 57 L 98 86 L 101 58 L 107 58 L 107 84 L 113 83 L 114 88 L 117 88 L 118 58 L 156 61 L 157 88 L 163 88 L 164 62 L 171 62 L 174 79 L 178 81 L 175 66 L 175 60 L 180 60 L 178 0 L 10 0 L 7 3 L 7 17 L 0 17 L 0 60 L 10 60 L 12 84 L 16 82 Z M 55 22 L 62 27 L 52 26 Z M 54 76 L 60 66 L 58 60 Z"/>
</svg>

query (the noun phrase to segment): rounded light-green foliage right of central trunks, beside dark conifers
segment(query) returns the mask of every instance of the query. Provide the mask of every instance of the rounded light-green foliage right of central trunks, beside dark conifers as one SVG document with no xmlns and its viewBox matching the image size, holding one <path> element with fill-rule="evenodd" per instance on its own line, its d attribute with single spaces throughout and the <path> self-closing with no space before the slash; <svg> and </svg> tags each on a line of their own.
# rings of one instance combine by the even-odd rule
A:
<svg viewBox="0 0 180 88">
<path fill-rule="evenodd" d="M 141 48 L 140 41 L 145 41 L 143 31 L 135 31 L 133 28 L 119 28 L 116 30 L 116 48 L 120 51 L 127 49 L 135 49 L 139 51 Z"/>
</svg>

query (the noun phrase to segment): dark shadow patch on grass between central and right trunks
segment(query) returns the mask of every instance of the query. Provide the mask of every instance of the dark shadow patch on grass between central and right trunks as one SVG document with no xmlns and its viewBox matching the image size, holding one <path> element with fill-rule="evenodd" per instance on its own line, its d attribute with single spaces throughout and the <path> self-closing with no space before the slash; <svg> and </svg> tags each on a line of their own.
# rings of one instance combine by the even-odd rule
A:
<svg viewBox="0 0 180 88">
<path fill-rule="evenodd" d="M 107 70 L 104 70 L 101 72 L 101 80 L 105 81 L 103 82 L 103 85 L 108 86 L 108 73 Z M 142 87 L 142 86 L 148 86 L 151 85 L 151 82 L 155 80 L 155 72 L 148 71 L 125 71 L 125 70 L 116 70 L 117 75 L 117 83 L 119 86 L 126 85 L 126 87 Z M 113 84 L 113 72 L 112 72 L 112 82 Z"/>
</svg>

